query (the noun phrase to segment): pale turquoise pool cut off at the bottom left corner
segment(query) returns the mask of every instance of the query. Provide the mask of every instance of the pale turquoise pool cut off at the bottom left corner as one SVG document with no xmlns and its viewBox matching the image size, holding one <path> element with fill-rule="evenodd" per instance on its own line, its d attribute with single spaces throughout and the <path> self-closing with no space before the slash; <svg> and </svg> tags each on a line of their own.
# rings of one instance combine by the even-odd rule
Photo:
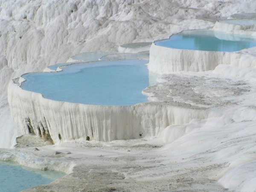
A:
<svg viewBox="0 0 256 192">
<path fill-rule="evenodd" d="M 24 169 L 15 163 L 0 161 L 0 192 L 20 192 L 63 177 L 61 172 Z"/>
</svg>

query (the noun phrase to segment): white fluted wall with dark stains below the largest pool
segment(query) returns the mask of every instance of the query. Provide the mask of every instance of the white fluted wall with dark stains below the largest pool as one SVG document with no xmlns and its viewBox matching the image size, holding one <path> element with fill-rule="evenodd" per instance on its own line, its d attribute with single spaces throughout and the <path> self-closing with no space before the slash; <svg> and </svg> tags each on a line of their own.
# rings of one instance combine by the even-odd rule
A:
<svg viewBox="0 0 256 192">
<path fill-rule="evenodd" d="M 35 132 L 50 136 L 53 143 L 79 138 L 111 141 L 162 136 L 168 125 L 215 116 L 207 108 L 184 108 L 166 102 L 133 106 L 59 102 L 23 90 L 17 81 L 9 84 L 8 101 L 18 136 Z"/>
</svg>

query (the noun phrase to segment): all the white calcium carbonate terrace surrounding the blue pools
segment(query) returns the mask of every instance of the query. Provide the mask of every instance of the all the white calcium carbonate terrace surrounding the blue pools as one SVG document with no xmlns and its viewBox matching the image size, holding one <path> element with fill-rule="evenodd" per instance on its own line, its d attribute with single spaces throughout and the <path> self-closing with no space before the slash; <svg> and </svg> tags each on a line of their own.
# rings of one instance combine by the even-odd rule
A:
<svg viewBox="0 0 256 192">
<path fill-rule="evenodd" d="M 256 191 L 256 47 L 154 43 L 195 29 L 256 39 L 255 12 L 255 0 L 0 0 L 0 160 L 67 174 L 31 192 Z M 24 73 L 115 59 L 149 59 L 149 102 L 21 86 Z"/>
</svg>

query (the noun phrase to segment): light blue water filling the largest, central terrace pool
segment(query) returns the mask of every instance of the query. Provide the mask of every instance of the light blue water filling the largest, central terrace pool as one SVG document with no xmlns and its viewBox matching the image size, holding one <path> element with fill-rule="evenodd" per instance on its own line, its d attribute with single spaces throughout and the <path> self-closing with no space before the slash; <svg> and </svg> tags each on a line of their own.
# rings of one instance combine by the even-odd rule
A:
<svg viewBox="0 0 256 192">
<path fill-rule="evenodd" d="M 29 73 L 22 88 L 45 98 L 91 105 L 134 105 L 148 102 L 145 60 L 73 64 L 58 73 Z"/>
</svg>

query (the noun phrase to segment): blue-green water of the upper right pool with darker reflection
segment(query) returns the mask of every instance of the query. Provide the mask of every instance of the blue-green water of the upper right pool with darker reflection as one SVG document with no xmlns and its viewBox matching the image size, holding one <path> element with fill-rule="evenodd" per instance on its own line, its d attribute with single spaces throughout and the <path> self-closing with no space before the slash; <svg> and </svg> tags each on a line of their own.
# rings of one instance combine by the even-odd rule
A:
<svg viewBox="0 0 256 192">
<path fill-rule="evenodd" d="M 234 52 L 256 47 L 256 39 L 225 32 L 193 30 L 172 35 L 166 40 L 155 41 L 155 44 L 175 49 Z"/>
</svg>

